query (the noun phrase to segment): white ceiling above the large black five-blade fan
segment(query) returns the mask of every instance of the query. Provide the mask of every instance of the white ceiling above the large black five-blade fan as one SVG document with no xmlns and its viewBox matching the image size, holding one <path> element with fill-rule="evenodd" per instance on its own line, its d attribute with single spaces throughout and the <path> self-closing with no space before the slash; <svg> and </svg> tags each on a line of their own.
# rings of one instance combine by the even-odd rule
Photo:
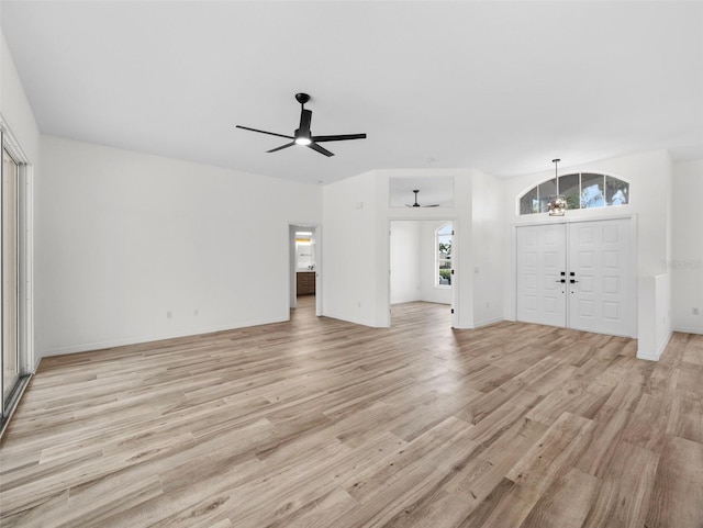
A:
<svg viewBox="0 0 703 528">
<path fill-rule="evenodd" d="M 2 0 L 43 133 L 303 182 L 703 158 L 703 3 Z M 313 134 L 265 150 L 312 96 Z M 434 161 L 427 161 L 434 158 Z"/>
</svg>

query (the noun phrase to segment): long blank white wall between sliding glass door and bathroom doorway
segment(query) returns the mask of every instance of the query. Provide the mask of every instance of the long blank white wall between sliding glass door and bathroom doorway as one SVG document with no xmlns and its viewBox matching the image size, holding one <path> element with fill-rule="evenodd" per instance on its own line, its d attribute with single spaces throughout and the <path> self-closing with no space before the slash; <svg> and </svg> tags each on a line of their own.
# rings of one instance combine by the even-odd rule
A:
<svg viewBox="0 0 703 528">
<path fill-rule="evenodd" d="M 320 221 L 319 187 L 49 136 L 42 158 L 41 353 L 288 318 L 288 223 Z"/>
</svg>

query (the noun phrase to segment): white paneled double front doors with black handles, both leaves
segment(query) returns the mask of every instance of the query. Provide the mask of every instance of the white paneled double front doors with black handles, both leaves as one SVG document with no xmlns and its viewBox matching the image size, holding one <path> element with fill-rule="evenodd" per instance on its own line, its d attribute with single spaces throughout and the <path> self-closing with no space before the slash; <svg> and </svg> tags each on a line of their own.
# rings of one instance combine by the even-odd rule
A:
<svg viewBox="0 0 703 528">
<path fill-rule="evenodd" d="M 517 321 L 634 336 L 631 224 L 517 227 Z"/>
</svg>

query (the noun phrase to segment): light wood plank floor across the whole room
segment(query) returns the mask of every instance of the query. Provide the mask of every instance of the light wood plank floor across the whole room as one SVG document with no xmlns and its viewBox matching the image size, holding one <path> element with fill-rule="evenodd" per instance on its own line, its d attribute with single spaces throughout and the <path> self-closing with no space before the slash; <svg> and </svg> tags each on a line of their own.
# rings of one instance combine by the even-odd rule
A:
<svg viewBox="0 0 703 528">
<path fill-rule="evenodd" d="M 47 358 L 0 448 L 5 527 L 702 528 L 703 336 L 446 306 Z"/>
</svg>

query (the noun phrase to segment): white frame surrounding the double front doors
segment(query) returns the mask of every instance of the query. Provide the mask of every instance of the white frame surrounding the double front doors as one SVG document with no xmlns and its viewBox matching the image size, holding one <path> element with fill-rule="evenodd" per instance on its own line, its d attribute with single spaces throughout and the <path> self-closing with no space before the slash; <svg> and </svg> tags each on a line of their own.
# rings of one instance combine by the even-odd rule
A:
<svg viewBox="0 0 703 528">
<path fill-rule="evenodd" d="M 560 216 L 557 218 L 538 218 L 534 222 L 521 222 L 512 225 L 512 255 L 511 259 L 511 277 L 513 280 L 513 306 L 512 306 L 512 319 L 517 321 L 517 228 L 518 227 L 527 227 L 527 226 L 539 226 L 539 225 L 554 225 L 554 224 L 565 224 L 565 229 L 567 224 L 581 224 L 587 222 L 603 222 L 609 220 L 629 220 L 631 229 L 629 229 L 629 266 L 632 268 L 631 279 L 629 279 L 629 288 L 632 292 L 632 310 L 633 310 L 633 325 L 632 325 L 632 335 L 627 337 L 632 337 L 633 339 L 637 338 L 637 269 L 638 269 L 638 260 L 637 260 L 637 214 L 609 214 L 609 215 L 599 215 L 598 217 L 585 218 L 585 217 L 566 217 Z M 568 259 L 568 255 L 567 255 Z M 568 314 L 568 303 L 567 303 L 567 327 L 569 323 L 569 314 Z"/>
</svg>

